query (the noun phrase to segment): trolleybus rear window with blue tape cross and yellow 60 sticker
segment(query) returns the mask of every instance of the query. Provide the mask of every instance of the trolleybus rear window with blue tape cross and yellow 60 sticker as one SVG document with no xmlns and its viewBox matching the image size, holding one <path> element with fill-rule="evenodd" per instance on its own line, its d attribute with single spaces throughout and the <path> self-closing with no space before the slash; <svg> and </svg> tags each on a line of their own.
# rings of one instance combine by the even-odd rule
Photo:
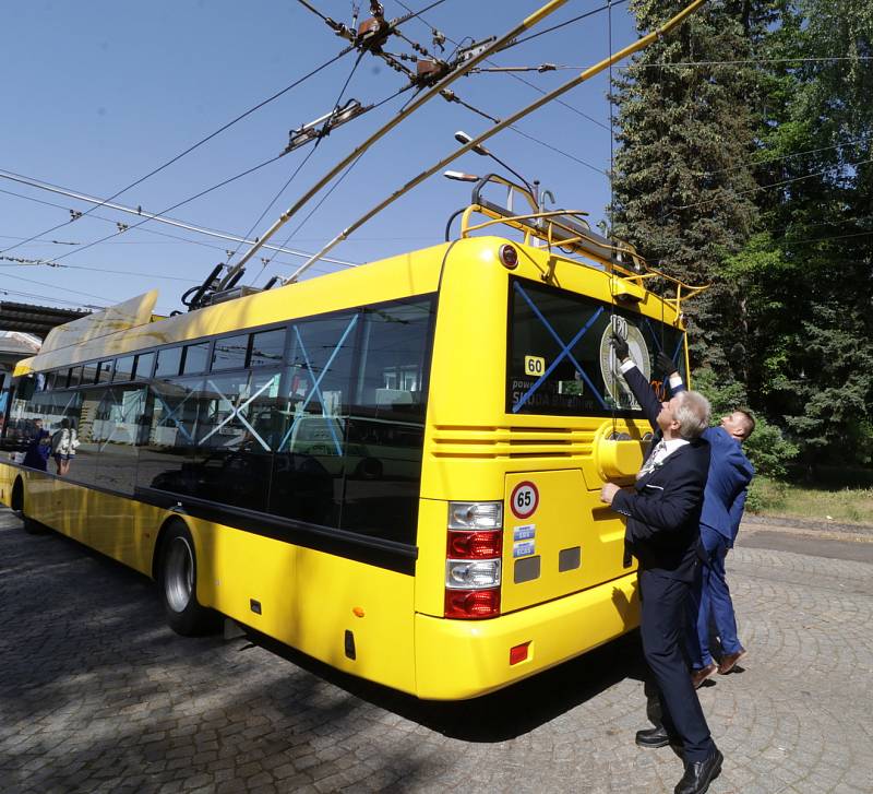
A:
<svg viewBox="0 0 873 794">
<path fill-rule="evenodd" d="M 627 341 L 631 356 L 656 389 L 655 357 L 661 351 L 684 376 L 680 329 L 618 306 L 534 282 L 513 279 L 506 411 L 512 414 L 598 416 L 639 413 L 618 370 L 611 330 Z"/>
</svg>

